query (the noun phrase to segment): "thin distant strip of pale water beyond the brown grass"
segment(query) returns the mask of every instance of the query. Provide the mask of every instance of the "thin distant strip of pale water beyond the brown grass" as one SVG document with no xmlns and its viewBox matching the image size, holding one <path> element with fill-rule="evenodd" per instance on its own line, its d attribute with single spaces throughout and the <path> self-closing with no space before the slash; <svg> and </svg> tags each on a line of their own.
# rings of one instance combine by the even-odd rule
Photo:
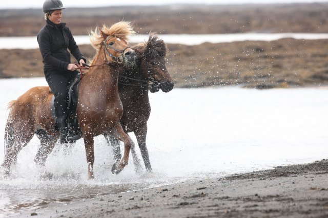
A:
<svg viewBox="0 0 328 218">
<path fill-rule="evenodd" d="M 327 33 L 232 33 L 232 34 L 161 34 L 166 43 L 181 45 L 200 45 L 204 42 L 221 43 L 233 41 L 274 41 L 281 38 L 295 39 L 327 39 Z M 90 44 L 89 36 L 74 36 L 78 45 Z M 134 35 L 130 42 L 147 41 L 148 35 Z M 21 43 L 24 41 L 24 43 Z M 0 37 L 0 49 L 37 49 L 36 36 L 26 37 Z"/>
</svg>

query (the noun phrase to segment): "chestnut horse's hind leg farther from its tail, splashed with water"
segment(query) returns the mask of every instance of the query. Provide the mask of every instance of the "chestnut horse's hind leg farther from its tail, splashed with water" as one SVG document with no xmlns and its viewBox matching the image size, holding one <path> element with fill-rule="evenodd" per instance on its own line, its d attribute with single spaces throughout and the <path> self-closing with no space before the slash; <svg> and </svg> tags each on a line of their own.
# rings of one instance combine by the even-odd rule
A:
<svg viewBox="0 0 328 218">
<path fill-rule="evenodd" d="M 40 140 L 40 146 L 36 152 L 34 162 L 39 166 L 45 166 L 48 156 L 55 147 L 57 137 L 49 135 L 44 129 L 37 130 L 35 134 Z"/>
</svg>

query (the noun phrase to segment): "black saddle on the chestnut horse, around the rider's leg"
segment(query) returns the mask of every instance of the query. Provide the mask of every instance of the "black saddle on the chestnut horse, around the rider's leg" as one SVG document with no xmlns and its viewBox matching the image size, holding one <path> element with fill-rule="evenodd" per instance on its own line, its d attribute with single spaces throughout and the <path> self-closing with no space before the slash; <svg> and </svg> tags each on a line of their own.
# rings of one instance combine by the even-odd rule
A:
<svg viewBox="0 0 328 218">
<path fill-rule="evenodd" d="M 77 94 L 78 94 L 78 84 L 80 82 L 80 74 L 76 74 L 75 77 L 73 77 L 69 81 L 69 97 L 68 97 L 68 120 L 67 120 L 67 127 L 70 130 L 70 132 L 75 132 L 77 134 L 81 135 L 81 130 L 78 128 L 77 125 L 77 114 L 76 114 L 76 106 L 77 106 Z M 49 88 L 49 91 L 51 89 Z M 54 99 L 55 97 L 52 96 L 52 99 L 50 101 L 50 111 L 51 116 L 55 119 L 55 107 L 54 107 Z M 58 130 L 58 126 L 55 125 L 55 129 Z"/>
</svg>

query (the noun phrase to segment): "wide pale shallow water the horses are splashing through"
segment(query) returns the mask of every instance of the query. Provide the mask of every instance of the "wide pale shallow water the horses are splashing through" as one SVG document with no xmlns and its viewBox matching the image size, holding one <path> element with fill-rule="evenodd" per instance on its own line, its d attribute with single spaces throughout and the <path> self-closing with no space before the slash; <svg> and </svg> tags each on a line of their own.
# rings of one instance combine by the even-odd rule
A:
<svg viewBox="0 0 328 218">
<path fill-rule="evenodd" d="M 46 85 L 45 79 L 0 80 L 0 138 L 7 103 L 37 85 Z M 93 181 L 87 180 L 82 140 L 71 152 L 56 145 L 43 173 L 33 162 L 39 143 L 33 138 L 11 176 L 0 175 L 0 217 L 103 194 L 327 158 L 326 88 L 174 89 L 150 94 L 150 100 L 147 144 L 154 173 L 135 173 L 130 158 L 119 175 L 112 175 L 112 151 L 101 136 L 95 139 Z M 1 162 L 3 158 L 1 152 Z"/>
</svg>

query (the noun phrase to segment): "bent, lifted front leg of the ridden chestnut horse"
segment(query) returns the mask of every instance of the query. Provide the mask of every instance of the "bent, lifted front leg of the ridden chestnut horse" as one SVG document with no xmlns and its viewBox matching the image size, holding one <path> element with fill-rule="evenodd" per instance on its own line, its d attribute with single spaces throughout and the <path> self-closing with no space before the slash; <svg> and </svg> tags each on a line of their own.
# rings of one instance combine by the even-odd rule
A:
<svg viewBox="0 0 328 218">
<path fill-rule="evenodd" d="M 116 128 L 113 130 L 113 136 L 117 140 L 124 142 L 124 155 L 122 159 L 115 163 L 112 167 L 112 173 L 117 174 L 128 164 L 132 140 L 129 135 L 124 132 L 120 123 L 118 123 Z"/>
</svg>

